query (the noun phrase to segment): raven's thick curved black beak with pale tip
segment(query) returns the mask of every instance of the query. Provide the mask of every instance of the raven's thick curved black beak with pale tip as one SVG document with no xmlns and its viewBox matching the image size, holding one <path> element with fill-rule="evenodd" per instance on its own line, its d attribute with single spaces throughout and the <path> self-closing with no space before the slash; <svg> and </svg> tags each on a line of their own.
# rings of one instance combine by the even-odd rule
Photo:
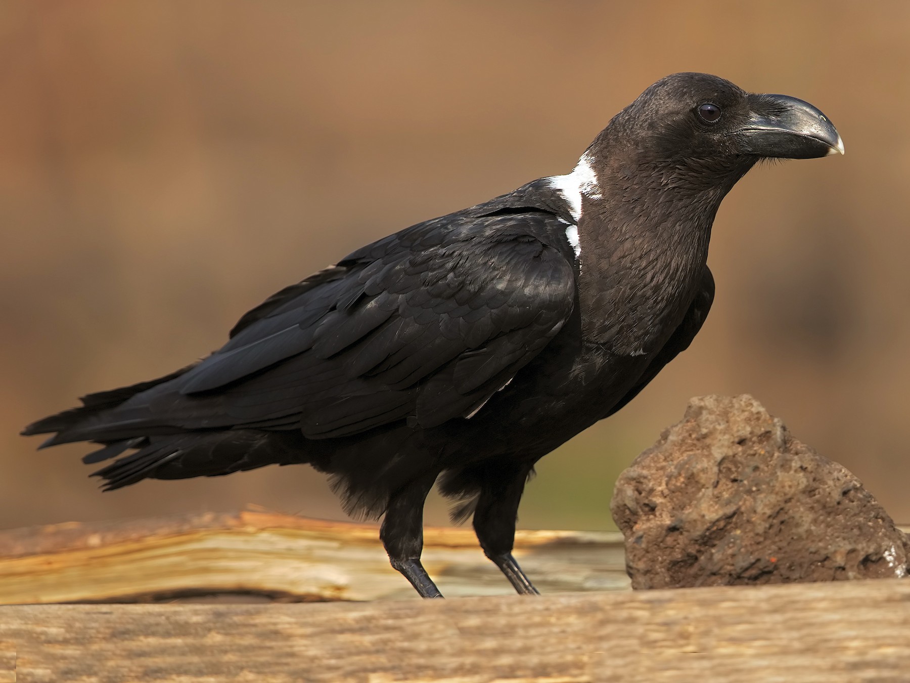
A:
<svg viewBox="0 0 910 683">
<path fill-rule="evenodd" d="M 736 131 L 747 154 L 773 158 L 844 154 L 837 128 L 808 102 L 786 95 L 750 95 L 749 101 L 749 121 Z"/>
</svg>

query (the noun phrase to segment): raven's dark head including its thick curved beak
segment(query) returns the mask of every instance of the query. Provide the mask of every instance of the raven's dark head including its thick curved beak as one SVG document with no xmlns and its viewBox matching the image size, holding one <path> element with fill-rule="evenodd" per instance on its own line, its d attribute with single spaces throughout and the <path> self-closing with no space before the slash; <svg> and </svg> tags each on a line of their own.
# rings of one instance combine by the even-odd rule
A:
<svg viewBox="0 0 910 683">
<path fill-rule="evenodd" d="M 608 138 L 612 130 L 633 141 L 640 158 L 690 168 L 700 162 L 751 167 L 759 158 L 844 153 L 831 121 L 807 102 L 746 93 L 708 74 L 662 78 L 613 118 L 604 130 Z"/>
</svg>

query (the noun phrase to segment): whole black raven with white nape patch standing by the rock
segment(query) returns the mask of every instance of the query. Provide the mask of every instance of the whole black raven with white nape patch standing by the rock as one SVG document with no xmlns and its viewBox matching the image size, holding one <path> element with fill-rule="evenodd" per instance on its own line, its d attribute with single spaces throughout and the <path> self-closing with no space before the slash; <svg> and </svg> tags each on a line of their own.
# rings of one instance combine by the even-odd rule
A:
<svg viewBox="0 0 910 683">
<path fill-rule="evenodd" d="M 23 433 L 100 444 L 86 463 L 121 456 L 95 473 L 106 490 L 311 464 L 350 514 L 384 515 L 391 564 L 425 597 L 440 596 L 420 564 L 438 481 L 512 586 L 537 593 L 511 556 L 534 464 L 692 342 L 736 181 L 761 158 L 837 152 L 802 100 L 667 76 L 568 175 L 369 244 L 249 311 L 202 361 Z"/>
</svg>

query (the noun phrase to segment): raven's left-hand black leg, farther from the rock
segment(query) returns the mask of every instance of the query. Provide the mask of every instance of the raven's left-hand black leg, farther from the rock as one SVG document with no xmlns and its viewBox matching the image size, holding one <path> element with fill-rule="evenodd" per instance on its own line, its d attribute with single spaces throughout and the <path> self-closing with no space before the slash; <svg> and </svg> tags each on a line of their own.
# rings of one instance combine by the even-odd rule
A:
<svg viewBox="0 0 910 683">
<path fill-rule="evenodd" d="M 389 500 L 379 528 L 379 538 L 389 553 L 389 562 L 410 581 L 420 597 L 442 597 L 427 570 L 420 564 L 423 551 L 423 503 L 436 481 L 436 474 L 411 482 Z"/>
</svg>

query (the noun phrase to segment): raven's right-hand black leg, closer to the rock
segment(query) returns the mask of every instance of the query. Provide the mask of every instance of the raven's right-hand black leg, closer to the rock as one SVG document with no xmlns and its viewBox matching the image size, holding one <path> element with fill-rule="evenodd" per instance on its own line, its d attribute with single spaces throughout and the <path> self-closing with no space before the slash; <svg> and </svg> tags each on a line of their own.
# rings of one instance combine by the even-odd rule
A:
<svg viewBox="0 0 910 683">
<path fill-rule="evenodd" d="M 511 555 L 518 504 L 530 471 L 530 466 L 523 464 L 498 464 L 483 473 L 474 510 L 474 531 L 484 554 L 500 568 L 515 590 L 522 595 L 537 596 L 540 591 Z"/>
</svg>

